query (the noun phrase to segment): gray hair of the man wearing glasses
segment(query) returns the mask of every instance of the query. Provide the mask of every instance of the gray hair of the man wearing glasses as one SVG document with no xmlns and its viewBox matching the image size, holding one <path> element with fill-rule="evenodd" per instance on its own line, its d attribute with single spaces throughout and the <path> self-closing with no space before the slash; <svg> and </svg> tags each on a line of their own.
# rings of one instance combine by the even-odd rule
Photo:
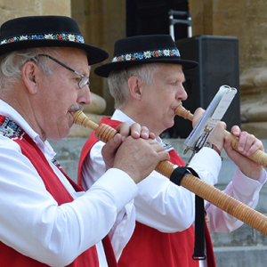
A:
<svg viewBox="0 0 267 267">
<path fill-rule="evenodd" d="M 57 53 L 56 48 L 32 48 L 4 54 L 0 57 L 0 85 L 1 90 L 10 90 L 12 85 L 22 79 L 21 68 L 27 61 L 36 62 L 44 72 L 44 75 L 53 74 L 49 63 L 44 59 L 35 58 L 38 53 Z"/>
</svg>

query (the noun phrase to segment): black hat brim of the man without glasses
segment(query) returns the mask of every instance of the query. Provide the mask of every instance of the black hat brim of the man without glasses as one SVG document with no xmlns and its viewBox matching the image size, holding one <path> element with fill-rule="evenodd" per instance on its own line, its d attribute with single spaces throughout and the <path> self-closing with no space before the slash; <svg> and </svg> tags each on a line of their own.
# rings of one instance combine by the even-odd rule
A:
<svg viewBox="0 0 267 267">
<path fill-rule="evenodd" d="M 182 69 L 193 69 L 198 66 L 197 61 L 183 61 L 181 59 L 149 59 L 142 61 L 116 61 L 103 64 L 94 69 L 94 73 L 100 77 L 109 77 L 109 73 L 112 70 L 125 69 L 142 64 L 151 64 L 151 63 L 166 63 L 166 64 L 179 64 L 182 65 Z"/>
</svg>

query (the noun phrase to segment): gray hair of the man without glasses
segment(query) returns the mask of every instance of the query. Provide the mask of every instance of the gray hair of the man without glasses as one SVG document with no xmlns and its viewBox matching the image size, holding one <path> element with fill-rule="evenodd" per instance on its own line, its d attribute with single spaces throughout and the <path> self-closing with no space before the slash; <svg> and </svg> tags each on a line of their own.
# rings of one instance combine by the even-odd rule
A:
<svg viewBox="0 0 267 267">
<path fill-rule="evenodd" d="M 154 73 L 158 70 L 158 64 L 142 64 L 127 69 L 113 70 L 108 77 L 109 92 L 114 98 L 115 109 L 121 109 L 129 100 L 128 79 L 138 77 L 143 83 L 152 85 Z"/>
</svg>

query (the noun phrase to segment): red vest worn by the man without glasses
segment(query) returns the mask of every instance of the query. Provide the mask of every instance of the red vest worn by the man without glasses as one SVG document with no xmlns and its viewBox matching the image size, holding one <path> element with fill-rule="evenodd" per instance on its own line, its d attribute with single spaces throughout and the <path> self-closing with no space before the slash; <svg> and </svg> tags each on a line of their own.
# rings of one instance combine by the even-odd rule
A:
<svg viewBox="0 0 267 267">
<path fill-rule="evenodd" d="M 121 122 L 103 117 L 100 125 L 104 123 L 114 128 Z M 93 134 L 85 142 L 81 152 L 78 166 L 78 184 L 81 184 L 81 169 L 86 156 L 98 139 Z M 170 161 L 178 166 L 184 166 L 174 150 L 169 151 Z M 198 267 L 198 261 L 192 259 L 194 253 L 193 225 L 181 232 L 164 233 L 145 224 L 136 222 L 133 237 L 126 245 L 119 261 L 119 267 Z M 211 245 L 209 231 L 206 227 L 206 245 Z M 211 249 L 210 249 L 211 247 Z M 214 267 L 214 252 L 211 246 L 207 246 L 208 267 Z"/>
</svg>

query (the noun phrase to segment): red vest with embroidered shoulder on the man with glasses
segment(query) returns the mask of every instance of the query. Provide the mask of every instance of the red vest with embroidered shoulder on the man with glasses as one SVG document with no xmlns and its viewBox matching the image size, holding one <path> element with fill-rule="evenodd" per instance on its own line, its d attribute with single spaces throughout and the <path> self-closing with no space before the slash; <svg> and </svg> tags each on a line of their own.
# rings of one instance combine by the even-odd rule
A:
<svg viewBox="0 0 267 267">
<path fill-rule="evenodd" d="M 17 142 L 20 145 L 20 149 L 22 154 L 27 157 L 32 165 L 36 168 L 36 171 L 40 175 L 40 177 L 44 181 L 44 185 L 46 190 L 48 190 L 53 198 L 58 202 L 59 206 L 63 203 L 68 203 L 73 201 L 73 198 L 69 194 L 69 191 L 63 186 L 57 175 L 53 172 L 53 169 L 49 165 L 48 161 L 44 157 L 44 154 L 41 150 L 36 146 L 36 143 L 23 132 L 23 130 L 13 123 L 9 118 L 0 115 L 0 131 L 7 137 L 11 138 L 14 142 Z M 8 130 L 8 131 L 5 131 Z M 9 133 L 10 132 L 10 133 Z M 63 173 L 61 166 L 55 163 Z M 63 173 L 64 174 L 64 173 Z M 83 190 L 80 186 L 78 186 L 75 182 L 73 182 L 66 174 L 66 178 L 69 180 L 71 185 L 76 191 Z M 103 244 L 109 243 L 109 237 L 103 239 Z M 111 244 L 108 246 L 111 247 Z M 114 256 L 114 255 L 113 255 Z M 108 258 L 108 256 L 107 256 Z M 114 256 L 115 260 L 115 256 Z M 115 260 L 116 262 L 116 260 Z M 19 252 L 14 250 L 12 247 L 8 247 L 4 245 L 3 242 L 0 241 L 0 266 L 8 266 L 8 267 L 44 267 L 48 266 L 44 263 L 39 263 L 36 260 L 21 255 Z M 98 267 L 98 255 L 96 251 L 96 247 L 90 247 L 83 254 L 79 255 L 73 263 L 68 265 L 69 267 Z M 112 265 L 109 265 L 112 266 Z M 117 266 L 113 265 L 113 266 Z"/>
</svg>

